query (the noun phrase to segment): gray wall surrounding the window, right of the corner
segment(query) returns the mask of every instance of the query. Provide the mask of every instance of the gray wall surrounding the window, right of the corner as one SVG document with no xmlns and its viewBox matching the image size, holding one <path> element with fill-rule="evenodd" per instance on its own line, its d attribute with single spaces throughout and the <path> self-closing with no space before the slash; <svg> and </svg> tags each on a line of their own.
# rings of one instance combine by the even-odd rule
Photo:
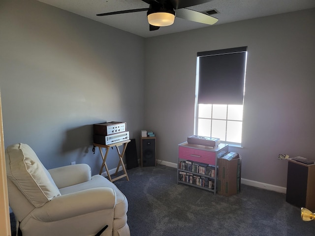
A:
<svg viewBox="0 0 315 236">
<path fill-rule="evenodd" d="M 193 135 L 196 53 L 248 46 L 242 177 L 286 186 L 287 161 L 315 159 L 315 9 L 146 39 L 145 125 L 177 162 Z"/>
</svg>

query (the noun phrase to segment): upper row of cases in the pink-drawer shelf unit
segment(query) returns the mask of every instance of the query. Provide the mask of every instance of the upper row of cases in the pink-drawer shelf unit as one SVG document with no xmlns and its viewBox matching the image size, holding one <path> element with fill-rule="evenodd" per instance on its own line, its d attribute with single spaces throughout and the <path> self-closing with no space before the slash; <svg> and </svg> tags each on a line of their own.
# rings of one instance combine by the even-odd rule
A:
<svg viewBox="0 0 315 236">
<path fill-rule="evenodd" d="M 192 162 L 189 160 L 180 161 L 178 163 L 178 168 L 184 171 L 190 171 L 201 175 L 206 175 L 210 177 L 215 177 L 215 167 L 209 166 L 208 164 L 200 163 L 200 162 Z"/>
</svg>

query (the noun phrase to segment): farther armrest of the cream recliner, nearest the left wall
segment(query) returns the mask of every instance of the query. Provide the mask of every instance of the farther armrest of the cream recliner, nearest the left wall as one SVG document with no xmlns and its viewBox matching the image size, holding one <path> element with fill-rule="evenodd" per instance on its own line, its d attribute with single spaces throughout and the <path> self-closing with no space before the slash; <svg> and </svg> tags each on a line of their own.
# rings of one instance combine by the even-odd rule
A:
<svg viewBox="0 0 315 236">
<path fill-rule="evenodd" d="M 48 172 L 59 189 L 91 180 L 91 168 L 87 164 L 58 167 Z"/>
</svg>

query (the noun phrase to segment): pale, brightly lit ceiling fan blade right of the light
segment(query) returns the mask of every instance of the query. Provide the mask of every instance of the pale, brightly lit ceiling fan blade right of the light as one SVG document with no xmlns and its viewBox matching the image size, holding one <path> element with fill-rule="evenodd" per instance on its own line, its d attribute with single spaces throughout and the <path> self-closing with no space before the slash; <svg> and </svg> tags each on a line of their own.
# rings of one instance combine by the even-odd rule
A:
<svg viewBox="0 0 315 236">
<path fill-rule="evenodd" d="M 218 21 L 218 19 L 213 16 L 209 16 L 201 12 L 193 11 L 186 8 L 177 9 L 175 10 L 175 12 L 176 12 L 176 17 L 189 20 L 189 21 L 207 24 L 207 25 L 213 25 L 217 23 Z"/>
</svg>

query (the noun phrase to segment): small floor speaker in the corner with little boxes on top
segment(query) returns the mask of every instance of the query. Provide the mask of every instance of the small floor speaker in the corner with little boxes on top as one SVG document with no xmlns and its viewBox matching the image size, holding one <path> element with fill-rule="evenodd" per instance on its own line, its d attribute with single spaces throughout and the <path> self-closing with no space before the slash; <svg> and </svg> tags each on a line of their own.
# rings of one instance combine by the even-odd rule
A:
<svg viewBox="0 0 315 236">
<path fill-rule="evenodd" d="M 141 166 L 156 166 L 156 138 L 141 138 Z"/>
</svg>

